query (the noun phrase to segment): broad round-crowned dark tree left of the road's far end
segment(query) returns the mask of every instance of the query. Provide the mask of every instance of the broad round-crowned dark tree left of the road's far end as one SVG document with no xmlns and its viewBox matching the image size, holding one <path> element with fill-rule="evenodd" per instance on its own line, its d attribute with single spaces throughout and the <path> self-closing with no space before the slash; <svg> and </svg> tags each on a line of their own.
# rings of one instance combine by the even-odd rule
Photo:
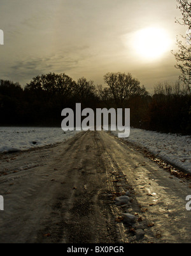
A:
<svg viewBox="0 0 191 256">
<path fill-rule="evenodd" d="M 63 108 L 73 107 L 76 82 L 64 73 L 48 73 L 32 78 L 24 93 L 32 122 L 59 125 Z"/>
</svg>

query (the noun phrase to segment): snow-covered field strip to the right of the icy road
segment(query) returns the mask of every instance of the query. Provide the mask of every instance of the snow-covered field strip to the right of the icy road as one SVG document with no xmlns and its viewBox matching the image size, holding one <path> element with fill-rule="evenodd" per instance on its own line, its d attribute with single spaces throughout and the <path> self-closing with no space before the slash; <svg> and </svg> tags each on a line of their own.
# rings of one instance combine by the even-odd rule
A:
<svg viewBox="0 0 191 256">
<path fill-rule="evenodd" d="M 112 133 L 118 136 L 117 132 Z M 131 128 L 130 136 L 124 139 L 191 173 L 191 136 Z"/>
</svg>

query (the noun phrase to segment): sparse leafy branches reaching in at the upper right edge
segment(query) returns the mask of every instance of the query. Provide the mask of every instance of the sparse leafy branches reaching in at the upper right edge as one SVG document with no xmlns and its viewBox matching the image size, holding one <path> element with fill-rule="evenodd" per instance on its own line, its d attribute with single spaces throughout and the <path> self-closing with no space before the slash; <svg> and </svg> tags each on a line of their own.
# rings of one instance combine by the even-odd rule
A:
<svg viewBox="0 0 191 256">
<path fill-rule="evenodd" d="M 187 84 L 190 89 L 191 83 L 191 3 L 188 0 L 176 0 L 177 8 L 181 11 L 182 18 L 176 20 L 178 24 L 187 26 L 187 35 L 182 36 L 183 41 L 177 38 L 178 52 L 174 54 L 177 64 L 176 68 L 180 69 L 180 79 Z"/>
</svg>

